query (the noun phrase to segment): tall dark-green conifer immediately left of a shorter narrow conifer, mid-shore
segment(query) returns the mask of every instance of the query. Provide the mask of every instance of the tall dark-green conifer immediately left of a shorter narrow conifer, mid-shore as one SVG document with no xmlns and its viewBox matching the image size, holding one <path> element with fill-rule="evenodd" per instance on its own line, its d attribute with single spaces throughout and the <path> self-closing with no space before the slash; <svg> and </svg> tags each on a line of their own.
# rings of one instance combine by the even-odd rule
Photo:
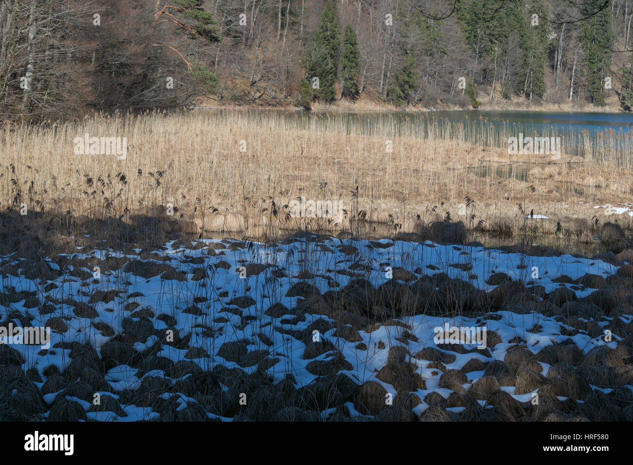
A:
<svg viewBox="0 0 633 465">
<path fill-rule="evenodd" d="M 314 95 L 327 102 L 336 98 L 336 80 L 341 46 L 341 25 L 336 18 L 336 3 L 328 0 L 321 22 L 304 57 L 306 78 L 318 78 Z"/>
</svg>

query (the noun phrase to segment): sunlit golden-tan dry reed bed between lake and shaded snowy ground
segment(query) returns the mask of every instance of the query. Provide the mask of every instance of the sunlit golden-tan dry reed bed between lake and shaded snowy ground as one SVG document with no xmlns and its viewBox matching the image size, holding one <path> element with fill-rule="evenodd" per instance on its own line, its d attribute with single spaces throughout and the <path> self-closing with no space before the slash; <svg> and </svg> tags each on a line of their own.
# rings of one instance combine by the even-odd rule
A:
<svg viewBox="0 0 633 465">
<path fill-rule="evenodd" d="M 633 218 L 626 214 L 605 216 L 604 209 L 592 208 L 631 201 L 633 181 L 622 164 L 627 159 L 620 152 L 604 156 L 622 142 L 621 135 L 611 133 L 611 142 L 605 142 L 608 134 L 601 138 L 602 156 L 569 156 L 563 147 L 560 159 L 552 160 L 482 147 L 463 129 L 435 122 L 426 128 L 400 126 L 385 118 L 368 135 L 360 126 L 348 127 L 340 114 L 291 120 L 275 112 L 243 111 L 94 115 L 7 125 L 0 137 L 0 208 L 24 203 L 30 211 L 126 220 L 136 213 L 165 215 L 171 203 L 175 215 L 165 218 L 192 220 L 188 232 L 246 230 L 251 236 L 279 228 L 349 228 L 359 213 L 406 231 L 448 213 L 468 226 L 518 232 L 530 211 L 550 218 L 532 221 L 547 232 L 557 222 L 563 230 L 579 232 L 584 226 L 577 221 L 594 215 L 599 222 L 631 226 Z M 482 127 L 485 131 L 489 128 Z M 85 133 L 127 137 L 127 159 L 76 155 L 73 139 Z M 491 164 L 505 166 L 508 174 L 477 175 Z M 520 171 L 527 177 L 515 176 Z M 284 206 L 301 196 L 339 200 L 348 216 L 339 224 L 289 221 Z M 465 215 L 460 204 L 467 204 Z"/>
</svg>

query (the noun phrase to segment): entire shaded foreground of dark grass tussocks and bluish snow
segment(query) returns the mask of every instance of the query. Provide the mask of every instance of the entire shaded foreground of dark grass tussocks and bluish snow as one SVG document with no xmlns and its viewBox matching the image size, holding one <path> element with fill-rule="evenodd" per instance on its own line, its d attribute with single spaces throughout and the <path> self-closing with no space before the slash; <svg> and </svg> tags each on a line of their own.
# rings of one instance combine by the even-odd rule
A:
<svg viewBox="0 0 633 465">
<path fill-rule="evenodd" d="M 52 330 L 0 344 L 4 421 L 633 419 L 624 235 L 587 258 L 1 219 L 0 326 Z M 436 340 L 445 324 L 484 347 Z"/>
</svg>

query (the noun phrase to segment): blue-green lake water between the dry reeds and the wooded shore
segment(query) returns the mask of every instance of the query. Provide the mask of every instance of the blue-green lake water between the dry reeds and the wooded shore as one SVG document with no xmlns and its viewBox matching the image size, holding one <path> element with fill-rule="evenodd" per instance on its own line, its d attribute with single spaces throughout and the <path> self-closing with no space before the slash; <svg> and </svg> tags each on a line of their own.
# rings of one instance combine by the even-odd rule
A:
<svg viewBox="0 0 633 465">
<path fill-rule="evenodd" d="M 235 110 L 221 110 L 235 111 Z M 241 110 L 240 110 L 241 111 Z M 297 121 L 299 127 L 328 130 L 330 123 L 346 131 L 367 135 L 412 135 L 425 138 L 459 137 L 486 146 L 504 147 L 508 137 L 561 137 L 563 151 L 583 154 L 630 153 L 633 146 L 633 113 L 555 113 L 546 111 L 463 110 L 463 111 L 287 111 L 273 112 Z M 605 134 L 610 137 L 604 137 Z"/>
</svg>

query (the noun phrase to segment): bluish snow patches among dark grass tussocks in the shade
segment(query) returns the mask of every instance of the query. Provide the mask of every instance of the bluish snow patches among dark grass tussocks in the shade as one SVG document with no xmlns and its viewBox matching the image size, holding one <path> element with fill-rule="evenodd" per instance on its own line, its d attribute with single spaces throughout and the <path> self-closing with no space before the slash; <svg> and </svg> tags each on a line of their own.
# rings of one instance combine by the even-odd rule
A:
<svg viewBox="0 0 633 465">
<path fill-rule="evenodd" d="M 69 342 L 91 345 L 103 361 L 103 347 L 112 341 L 120 342 L 124 335 L 132 352 L 157 357 L 163 369 L 139 363 L 106 365 L 107 372 L 103 375 L 110 389 L 95 392 L 115 399 L 123 390 L 138 390 L 148 377 L 158 376 L 169 383 L 186 379 L 191 374 L 175 378 L 170 371 L 182 361 L 196 364 L 201 371 L 211 371 L 218 365 L 241 369 L 247 375 L 263 371 L 272 385 L 292 375 L 294 388 L 311 385 L 324 373 L 339 373 L 357 385 L 376 381 L 387 394 L 395 396 L 396 387 L 379 373 L 389 366 L 390 349 L 404 346 L 404 363 L 411 364 L 416 379 L 423 380 L 423 387 L 418 385 L 410 391 L 420 399 L 413 411 L 422 415 L 429 408 L 423 400 L 427 395 L 436 392 L 448 399 L 453 392 L 441 387 L 441 376 L 449 370 L 463 369 L 473 359 L 484 364 L 503 362 L 507 360 L 508 349 L 517 345 L 536 357 L 544 348 L 563 341 L 573 343 L 586 356 L 595 347 L 617 349 L 618 340 L 622 339 L 614 334 L 609 342 L 603 334 L 573 333 L 567 331 L 573 328 L 561 318 L 537 311 L 513 313 L 503 309 L 472 318 L 433 314 L 397 316 L 394 318 L 397 324 L 393 320 L 382 321 L 367 327 L 351 325 L 346 327 L 349 331 L 342 331 L 334 314 L 318 311 L 323 308 L 319 306 L 323 305 L 321 302 L 325 306 L 330 303 L 323 299 L 315 303 L 312 299 L 315 294 L 331 294 L 353 285 L 359 278 L 379 288 L 392 280 L 412 284 L 421 276 L 439 273 L 468 282 L 484 292 L 497 287 L 487 283 L 492 275 L 505 273 L 512 281 L 541 286 L 543 296 L 566 287 L 577 299 L 583 299 L 596 289 L 581 285 L 582 276 L 608 278 L 619 268 L 599 259 L 571 255 L 536 257 L 430 241 L 420 244 L 310 236 L 308 240 L 285 240 L 273 245 L 239 240 L 201 240 L 196 244 L 172 241 L 152 252 L 78 250 L 45 261 L 50 268 L 44 266 L 47 271 L 42 277 L 40 273 L 32 275 L 21 270 L 20 264 L 24 262 L 16 255 L 0 257 L 3 265 L 0 292 L 16 295 L 26 291 L 22 294 L 24 299 L 13 299 L 14 302 L 0 307 L 3 321 L 13 319 L 15 325 L 20 325 L 18 315 L 21 315 L 30 321 L 30 326 L 56 325 L 50 349 L 25 344 L 9 344 L 9 347 L 22 357 L 22 369 L 37 369 L 41 381 L 35 385 L 42 388 L 47 379 L 45 373 L 56 371 L 51 366 L 61 373 L 68 371 L 75 356 Z M 556 282 L 563 275 L 573 282 Z M 302 283 L 309 283 L 316 291 L 303 287 Z M 306 288 L 310 292 L 305 292 Z M 28 295 L 29 292 L 34 294 Z M 308 301 L 311 305 L 305 306 Z M 11 318 L 7 318 L 9 314 Z M 606 328 L 613 318 L 621 318 L 622 325 L 630 325 L 633 320 L 633 316 L 624 314 L 604 318 L 598 325 Z M 447 349 L 447 345 L 438 347 L 434 340 L 436 328 L 447 324 L 485 328 L 486 350 L 477 349 L 477 344 L 460 344 L 460 350 L 455 351 Z M 171 338 L 170 332 L 173 332 Z M 134 344 L 130 338 L 135 339 Z M 179 344 L 186 338 L 186 344 Z M 329 345 L 316 350 L 315 356 L 306 355 L 311 341 Z M 429 347 L 446 355 L 442 366 L 425 358 L 424 349 Z M 417 355 L 420 352 L 422 355 Z M 261 363 L 263 360 L 265 364 Z M 540 374 L 547 375 L 551 365 L 538 364 Z M 485 373 L 484 369 L 468 371 L 467 379 L 460 384 L 468 391 Z M 65 395 L 66 385 L 62 387 L 58 392 L 44 394 L 44 401 L 54 404 L 58 395 Z M 517 394 L 515 389 L 501 385 L 501 390 L 519 402 L 530 402 L 537 392 L 534 389 Z M 165 401 L 175 396 L 179 411 L 198 402 L 183 392 L 161 395 Z M 122 401 L 125 414 L 93 411 L 92 396 L 94 393 L 84 399 L 66 395 L 66 399 L 78 402 L 89 419 L 160 418 L 151 407 Z M 354 407 L 347 408 L 348 414 L 353 415 Z M 458 412 L 461 407 L 455 408 Z M 320 416 L 327 418 L 332 412 L 323 411 Z M 206 414 L 208 418 L 230 419 L 213 412 Z"/>
</svg>

